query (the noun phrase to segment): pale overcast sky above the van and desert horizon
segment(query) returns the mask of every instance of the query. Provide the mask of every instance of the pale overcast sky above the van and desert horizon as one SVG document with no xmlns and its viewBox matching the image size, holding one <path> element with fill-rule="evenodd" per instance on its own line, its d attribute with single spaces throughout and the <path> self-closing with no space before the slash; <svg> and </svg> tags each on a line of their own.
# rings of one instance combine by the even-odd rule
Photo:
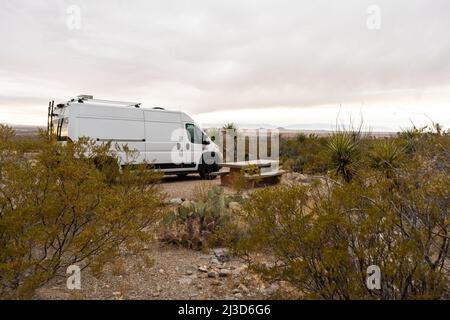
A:
<svg viewBox="0 0 450 320">
<path fill-rule="evenodd" d="M 202 123 L 450 126 L 448 0 L 0 0 L 0 40 L 0 122 L 93 94 Z"/>
</svg>

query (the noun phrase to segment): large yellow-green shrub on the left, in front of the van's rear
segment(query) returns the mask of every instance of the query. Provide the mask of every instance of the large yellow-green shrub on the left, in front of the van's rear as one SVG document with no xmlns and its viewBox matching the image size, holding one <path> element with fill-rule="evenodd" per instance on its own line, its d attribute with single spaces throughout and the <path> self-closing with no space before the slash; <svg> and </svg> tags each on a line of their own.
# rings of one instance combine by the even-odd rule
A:
<svg viewBox="0 0 450 320">
<path fill-rule="evenodd" d="M 69 265 L 99 268 L 152 236 L 158 173 L 124 169 L 110 184 L 93 161 L 106 151 L 93 142 L 41 136 L 29 159 L 10 136 L 0 128 L 0 297 L 30 297 Z"/>
</svg>

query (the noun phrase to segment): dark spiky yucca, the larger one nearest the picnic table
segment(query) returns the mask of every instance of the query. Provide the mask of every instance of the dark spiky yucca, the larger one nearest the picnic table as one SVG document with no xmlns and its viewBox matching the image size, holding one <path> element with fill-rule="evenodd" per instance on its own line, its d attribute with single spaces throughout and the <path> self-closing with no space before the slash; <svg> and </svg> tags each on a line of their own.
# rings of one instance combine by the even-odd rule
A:
<svg viewBox="0 0 450 320">
<path fill-rule="evenodd" d="M 335 174 L 350 182 L 360 156 L 359 131 L 337 131 L 331 136 L 327 147 Z"/>
</svg>

